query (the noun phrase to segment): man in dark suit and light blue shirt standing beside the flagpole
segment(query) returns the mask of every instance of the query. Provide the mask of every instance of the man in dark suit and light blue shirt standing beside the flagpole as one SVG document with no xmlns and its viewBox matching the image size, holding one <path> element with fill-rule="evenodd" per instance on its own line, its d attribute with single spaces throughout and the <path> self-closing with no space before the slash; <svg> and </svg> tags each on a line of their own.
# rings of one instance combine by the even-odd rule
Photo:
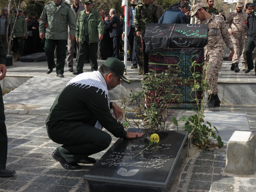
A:
<svg viewBox="0 0 256 192">
<path fill-rule="evenodd" d="M 138 68 L 137 62 L 136 62 L 136 51 L 135 51 L 135 27 L 134 27 L 134 12 L 135 12 L 135 6 L 137 5 L 137 0 L 131 0 L 131 7 L 128 8 L 128 15 L 129 15 L 129 26 L 127 26 L 127 39 L 130 49 L 130 58 L 132 61 L 132 69 Z M 123 27 L 123 34 L 122 38 L 124 38 L 124 28 Z"/>
</svg>

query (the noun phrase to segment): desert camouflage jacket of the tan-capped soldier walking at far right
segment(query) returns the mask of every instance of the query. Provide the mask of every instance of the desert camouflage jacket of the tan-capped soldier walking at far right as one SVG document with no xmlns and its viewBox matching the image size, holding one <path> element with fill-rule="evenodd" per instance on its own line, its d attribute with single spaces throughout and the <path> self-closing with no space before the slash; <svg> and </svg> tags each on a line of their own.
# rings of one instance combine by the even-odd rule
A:
<svg viewBox="0 0 256 192">
<path fill-rule="evenodd" d="M 236 10 L 229 13 L 226 19 L 228 25 L 228 32 L 234 31 L 234 37 L 245 36 L 246 33 L 246 21 L 248 14 L 246 12 L 238 13 Z"/>
</svg>

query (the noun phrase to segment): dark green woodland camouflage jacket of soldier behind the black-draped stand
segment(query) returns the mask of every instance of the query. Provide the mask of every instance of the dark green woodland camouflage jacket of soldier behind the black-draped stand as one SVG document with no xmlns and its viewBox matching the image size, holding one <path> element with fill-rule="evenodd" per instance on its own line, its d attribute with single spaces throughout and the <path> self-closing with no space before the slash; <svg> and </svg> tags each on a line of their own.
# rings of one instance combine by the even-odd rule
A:
<svg viewBox="0 0 256 192">
<path fill-rule="evenodd" d="M 143 2 L 138 3 L 134 12 L 135 31 L 145 32 L 148 23 L 158 23 L 157 6 L 149 3 L 147 8 Z"/>
</svg>

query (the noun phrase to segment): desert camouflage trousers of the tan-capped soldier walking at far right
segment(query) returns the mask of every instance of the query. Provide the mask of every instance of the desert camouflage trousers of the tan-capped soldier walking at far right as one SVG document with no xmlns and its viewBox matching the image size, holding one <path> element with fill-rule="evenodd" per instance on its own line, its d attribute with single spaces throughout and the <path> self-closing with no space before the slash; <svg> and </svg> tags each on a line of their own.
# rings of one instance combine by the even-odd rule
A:
<svg viewBox="0 0 256 192">
<path fill-rule="evenodd" d="M 232 58 L 232 63 L 239 63 L 239 57 L 242 55 L 243 47 L 244 47 L 244 36 L 234 37 L 230 36 L 231 40 L 234 44 L 234 56 Z"/>
</svg>

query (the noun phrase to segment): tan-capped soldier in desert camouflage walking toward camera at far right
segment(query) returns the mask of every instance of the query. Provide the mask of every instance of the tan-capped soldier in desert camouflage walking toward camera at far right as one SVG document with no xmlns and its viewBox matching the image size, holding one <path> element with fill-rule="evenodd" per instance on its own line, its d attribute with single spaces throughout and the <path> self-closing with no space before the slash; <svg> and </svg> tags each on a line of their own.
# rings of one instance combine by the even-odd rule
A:
<svg viewBox="0 0 256 192">
<path fill-rule="evenodd" d="M 243 12 L 244 2 L 238 1 L 236 4 L 236 10 L 230 12 L 227 16 L 226 23 L 228 25 L 228 32 L 231 36 L 231 40 L 234 44 L 235 54 L 232 58 L 232 64 L 230 70 L 238 73 L 240 71 L 238 67 L 239 57 L 242 55 L 244 47 L 244 38 L 246 33 L 246 20 L 248 14 Z"/>
</svg>

